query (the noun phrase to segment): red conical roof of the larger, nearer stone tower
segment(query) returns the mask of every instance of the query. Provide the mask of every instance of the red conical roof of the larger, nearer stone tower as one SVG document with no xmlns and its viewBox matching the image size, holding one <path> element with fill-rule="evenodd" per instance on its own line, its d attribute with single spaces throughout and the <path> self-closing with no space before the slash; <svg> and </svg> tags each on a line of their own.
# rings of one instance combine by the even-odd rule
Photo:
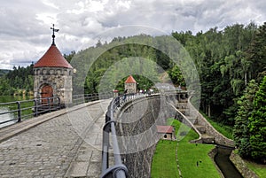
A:
<svg viewBox="0 0 266 178">
<path fill-rule="evenodd" d="M 65 68 L 73 68 L 62 56 L 61 52 L 54 44 L 52 44 L 51 47 L 45 52 L 43 57 L 35 63 L 34 67 L 40 66 L 58 66 Z"/>
</svg>

